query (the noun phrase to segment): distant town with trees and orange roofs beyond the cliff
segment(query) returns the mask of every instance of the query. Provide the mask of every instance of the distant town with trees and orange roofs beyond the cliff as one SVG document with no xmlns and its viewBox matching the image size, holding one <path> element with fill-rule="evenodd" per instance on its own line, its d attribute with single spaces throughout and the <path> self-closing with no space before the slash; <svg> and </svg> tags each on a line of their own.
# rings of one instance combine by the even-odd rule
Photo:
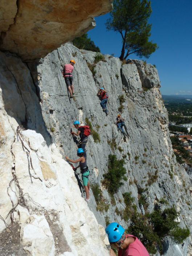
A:
<svg viewBox="0 0 192 256">
<path fill-rule="evenodd" d="M 163 96 L 177 162 L 192 165 L 192 96 Z"/>
</svg>

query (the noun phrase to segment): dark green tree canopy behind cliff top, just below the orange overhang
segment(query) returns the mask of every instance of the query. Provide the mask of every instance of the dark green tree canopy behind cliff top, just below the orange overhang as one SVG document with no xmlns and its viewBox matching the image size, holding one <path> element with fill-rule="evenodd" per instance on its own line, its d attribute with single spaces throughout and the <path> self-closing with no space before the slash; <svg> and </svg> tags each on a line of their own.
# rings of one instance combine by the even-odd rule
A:
<svg viewBox="0 0 192 256">
<path fill-rule="evenodd" d="M 95 46 L 94 42 L 91 40 L 90 37 L 88 38 L 87 33 L 83 34 L 83 36 L 74 38 L 72 42 L 73 45 L 79 49 L 84 49 L 92 52 L 100 52 L 99 47 Z"/>
</svg>

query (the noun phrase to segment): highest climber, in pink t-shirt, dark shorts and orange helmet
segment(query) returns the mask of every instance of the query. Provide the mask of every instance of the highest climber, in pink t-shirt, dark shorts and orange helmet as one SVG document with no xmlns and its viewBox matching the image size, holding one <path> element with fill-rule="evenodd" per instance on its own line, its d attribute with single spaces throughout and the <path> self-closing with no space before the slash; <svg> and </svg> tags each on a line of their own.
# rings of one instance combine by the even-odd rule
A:
<svg viewBox="0 0 192 256">
<path fill-rule="evenodd" d="M 70 60 L 69 64 L 64 65 L 65 82 L 66 82 L 66 85 L 68 86 L 68 90 L 69 90 L 69 93 L 70 93 L 70 98 L 73 98 L 73 94 L 74 94 L 74 91 L 73 91 L 73 75 L 72 75 L 74 64 L 75 64 L 75 61 Z"/>
</svg>

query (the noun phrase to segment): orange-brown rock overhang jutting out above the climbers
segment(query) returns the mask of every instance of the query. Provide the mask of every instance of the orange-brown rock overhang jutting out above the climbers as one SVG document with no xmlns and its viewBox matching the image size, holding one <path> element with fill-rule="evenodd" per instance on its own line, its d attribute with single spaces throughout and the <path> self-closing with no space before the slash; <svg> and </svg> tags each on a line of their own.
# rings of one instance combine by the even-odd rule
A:
<svg viewBox="0 0 192 256">
<path fill-rule="evenodd" d="M 112 0 L 1 1 L 0 50 L 23 60 L 46 56 L 95 27 L 94 17 L 112 9 Z"/>
</svg>

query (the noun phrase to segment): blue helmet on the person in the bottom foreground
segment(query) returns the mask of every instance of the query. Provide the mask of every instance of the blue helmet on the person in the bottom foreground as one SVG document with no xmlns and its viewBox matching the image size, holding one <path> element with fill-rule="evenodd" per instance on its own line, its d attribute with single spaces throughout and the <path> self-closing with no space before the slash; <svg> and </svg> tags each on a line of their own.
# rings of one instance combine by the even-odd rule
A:
<svg viewBox="0 0 192 256">
<path fill-rule="evenodd" d="M 105 228 L 105 232 L 109 237 L 109 243 L 117 242 L 122 237 L 124 231 L 125 229 L 117 222 L 112 222 Z"/>
</svg>

